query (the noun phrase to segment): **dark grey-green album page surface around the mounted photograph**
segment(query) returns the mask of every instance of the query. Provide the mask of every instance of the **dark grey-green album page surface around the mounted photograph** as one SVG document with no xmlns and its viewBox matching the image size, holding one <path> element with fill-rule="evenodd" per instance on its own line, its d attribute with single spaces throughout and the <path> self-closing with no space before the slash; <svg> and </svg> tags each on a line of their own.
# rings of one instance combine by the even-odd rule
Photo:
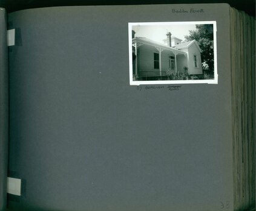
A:
<svg viewBox="0 0 256 211">
<path fill-rule="evenodd" d="M 10 13 L 9 175 L 23 210 L 232 210 L 229 7 Z M 128 22 L 216 20 L 218 84 L 129 85 Z"/>
</svg>

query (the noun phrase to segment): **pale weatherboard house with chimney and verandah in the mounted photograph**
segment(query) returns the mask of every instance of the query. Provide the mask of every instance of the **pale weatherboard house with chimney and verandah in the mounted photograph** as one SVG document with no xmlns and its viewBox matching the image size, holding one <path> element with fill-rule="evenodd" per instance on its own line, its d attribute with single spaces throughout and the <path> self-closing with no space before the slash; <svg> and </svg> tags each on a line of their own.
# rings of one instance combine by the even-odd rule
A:
<svg viewBox="0 0 256 211">
<path fill-rule="evenodd" d="M 133 37 L 134 37 L 133 32 Z M 195 40 L 182 42 L 166 34 L 165 43 L 145 37 L 133 38 L 133 74 L 140 79 L 155 80 L 170 72 L 187 72 L 188 75 L 203 74 L 201 52 Z"/>
</svg>

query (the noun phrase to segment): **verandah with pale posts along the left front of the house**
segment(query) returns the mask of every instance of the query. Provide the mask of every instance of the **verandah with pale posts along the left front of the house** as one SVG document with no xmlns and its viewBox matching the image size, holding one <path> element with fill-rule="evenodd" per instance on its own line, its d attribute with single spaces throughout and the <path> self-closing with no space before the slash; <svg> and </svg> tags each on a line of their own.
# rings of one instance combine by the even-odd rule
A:
<svg viewBox="0 0 256 211">
<path fill-rule="evenodd" d="M 188 54 L 145 37 L 133 39 L 133 75 L 140 80 L 156 80 L 169 74 L 186 73 Z"/>
</svg>

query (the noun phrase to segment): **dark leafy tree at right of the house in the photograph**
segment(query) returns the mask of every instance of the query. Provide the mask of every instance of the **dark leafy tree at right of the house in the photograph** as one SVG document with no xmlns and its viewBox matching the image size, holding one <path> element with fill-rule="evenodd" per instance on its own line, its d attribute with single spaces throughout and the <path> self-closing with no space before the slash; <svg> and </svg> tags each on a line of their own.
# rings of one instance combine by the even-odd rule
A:
<svg viewBox="0 0 256 211">
<path fill-rule="evenodd" d="M 214 74 L 214 41 L 213 25 L 200 24 L 195 25 L 195 30 L 189 30 L 189 35 L 185 36 L 186 41 L 196 40 L 202 49 L 203 71 L 208 74 Z"/>
</svg>

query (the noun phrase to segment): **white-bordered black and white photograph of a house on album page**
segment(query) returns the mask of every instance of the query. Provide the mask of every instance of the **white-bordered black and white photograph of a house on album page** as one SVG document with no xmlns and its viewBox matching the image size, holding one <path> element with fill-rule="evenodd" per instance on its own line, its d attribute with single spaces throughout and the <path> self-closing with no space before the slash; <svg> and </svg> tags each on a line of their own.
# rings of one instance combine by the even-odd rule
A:
<svg viewBox="0 0 256 211">
<path fill-rule="evenodd" d="M 128 26 L 130 85 L 218 83 L 215 21 Z"/>
</svg>

